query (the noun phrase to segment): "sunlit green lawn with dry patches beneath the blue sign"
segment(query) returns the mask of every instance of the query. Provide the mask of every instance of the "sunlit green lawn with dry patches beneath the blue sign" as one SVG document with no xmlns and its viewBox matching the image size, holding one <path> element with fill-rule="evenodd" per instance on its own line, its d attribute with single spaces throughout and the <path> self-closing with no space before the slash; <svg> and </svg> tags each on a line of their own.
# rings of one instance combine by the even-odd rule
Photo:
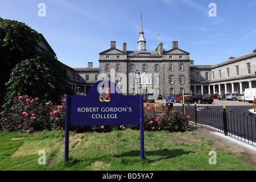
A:
<svg viewBox="0 0 256 182">
<path fill-rule="evenodd" d="M 211 140 L 193 132 L 144 132 L 144 155 L 140 158 L 138 130 L 114 130 L 110 133 L 70 133 L 69 161 L 64 162 L 64 131 L 34 134 L 0 132 L 1 171 L 232 171 L 255 170 L 240 156 L 214 147 Z M 40 165 L 39 151 L 46 152 L 46 164 Z M 217 154 L 210 165 L 209 151 Z"/>
</svg>

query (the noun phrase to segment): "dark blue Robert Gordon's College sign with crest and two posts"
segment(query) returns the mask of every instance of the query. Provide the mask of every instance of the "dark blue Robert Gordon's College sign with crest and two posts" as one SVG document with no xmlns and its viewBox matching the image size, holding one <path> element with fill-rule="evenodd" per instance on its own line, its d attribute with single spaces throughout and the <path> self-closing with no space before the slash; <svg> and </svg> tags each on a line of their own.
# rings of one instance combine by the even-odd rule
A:
<svg viewBox="0 0 256 182">
<path fill-rule="evenodd" d="M 66 96 L 65 161 L 69 126 L 141 125 L 141 159 L 144 158 L 143 97 L 123 96 L 111 81 L 99 81 L 87 96 Z"/>
</svg>

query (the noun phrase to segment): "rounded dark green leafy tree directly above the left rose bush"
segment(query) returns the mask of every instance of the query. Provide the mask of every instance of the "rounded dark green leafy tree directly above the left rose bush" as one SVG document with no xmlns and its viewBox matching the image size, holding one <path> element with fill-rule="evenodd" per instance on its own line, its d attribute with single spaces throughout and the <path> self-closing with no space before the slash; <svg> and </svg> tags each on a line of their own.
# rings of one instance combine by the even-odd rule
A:
<svg viewBox="0 0 256 182">
<path fill-rule="evenodd" d="M 23 60 L 11 71 L 3 107 L 10 107 L 18 94 L 38 97 L 44 103 L 59 103 L 60 95 L 75 94 L 67 80 L 69 77 L 64 65 L 51 53 L 41 53 L 38 57 Z"/>
</svg>

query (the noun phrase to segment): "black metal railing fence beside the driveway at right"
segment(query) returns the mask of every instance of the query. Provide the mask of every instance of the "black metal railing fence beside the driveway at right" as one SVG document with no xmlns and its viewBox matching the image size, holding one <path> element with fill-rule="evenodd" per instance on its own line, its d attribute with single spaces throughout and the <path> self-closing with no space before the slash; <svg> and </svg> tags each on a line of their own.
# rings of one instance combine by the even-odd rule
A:
<svg viewBox="0 0 256 182">
<path fill-rule="evenodd" d="M 192 115 L 192 122 L 256 147 L 256 116 L 254 114 L 237 114 L 232 111 L 227 112 L 225 108 L 218 110 L 196 105 L 174 106 L 174 108 L 185 115 Z"/>
</svg>

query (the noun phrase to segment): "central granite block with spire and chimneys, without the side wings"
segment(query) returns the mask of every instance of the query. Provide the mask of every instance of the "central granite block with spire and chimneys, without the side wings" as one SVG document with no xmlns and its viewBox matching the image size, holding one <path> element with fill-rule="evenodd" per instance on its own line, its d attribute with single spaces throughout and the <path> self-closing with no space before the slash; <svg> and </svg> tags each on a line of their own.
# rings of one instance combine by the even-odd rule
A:
<svg viewBox="0 0 256 182">
<path fill-rule="evenodd" d="M 190 92 L 189 53 L 180 49 L 178 42 L 172 42 L 168 51 L 163 50 L 162 43 L 155 51 L 147 51 L 142 21 L 137 51 L 127 51 L 126 43 L 119 50 L 112 41 L 110 48 L 99 54 L 99 79 L 115 82 L 123 94 L 154 93 L 165 97 Z"/>
</svg>

